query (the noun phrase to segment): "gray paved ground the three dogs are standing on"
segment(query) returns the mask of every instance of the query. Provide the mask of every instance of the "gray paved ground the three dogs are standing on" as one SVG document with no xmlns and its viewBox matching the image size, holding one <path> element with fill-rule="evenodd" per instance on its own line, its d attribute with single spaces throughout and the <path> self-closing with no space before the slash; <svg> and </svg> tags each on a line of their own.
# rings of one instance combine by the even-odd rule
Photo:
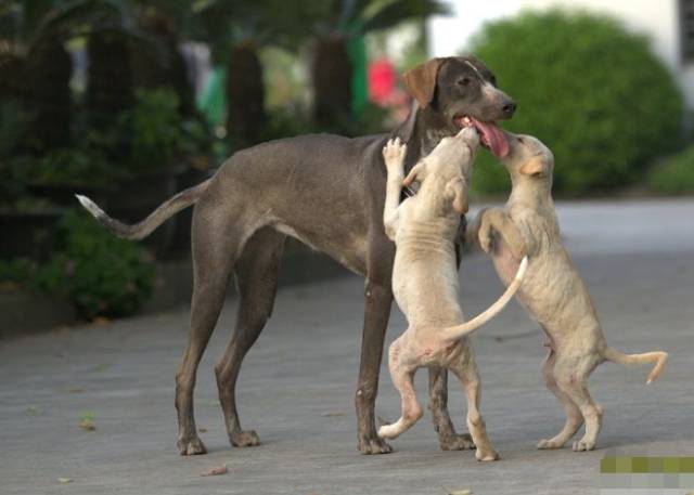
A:
<svg viewBox="0 0 694 495">
<path fill-rule="evenodd" d="M 694 455 L 694 201 L 563 204 L 560 217 L 609 342 L 671 353 L 661 379 L 648 387 L 642 368 L 605 364 L 593 375 L 593 394 L 606 411 L 595 452 L 535 450 L 558 430 L 563 413 L 541 381 L 541 336 L 513 303 L 474 337 L 483 412 L 501 461 L 440 452 L 428 418 L 394 443 L 394 454 L 357 454 L 352 394 L 362 282 L 346 277 L 281 291 L 239 387 L 243 424 L 264 441 L 255 448 L 227 443 L 211 372 L 234 301 L 198 375 L 206 456 L 179 457 L 175 446 L 174 374 L 185 311 L 0 342 L 0 493 L 440 495 L 446 487 L 586 494 L 596 493 L 599 461 L 607 453 Z M 467 258 L 462 274 L 467 314 L 500 294 L 484 257 Z M 402 328 L 397 313 L 388 339 Z M 421 373 L 422 396 L 425 382 Z M 454 381 L 451 387 L 458 389 Z M 452 395 L 462 425 L 462 394 Z M 387 374 L 377 411 L 398 415 Z M 92 432 L 78 427 L 90 413 Z M 200 477 L 221 464 L 228 474 Z"/>
</svg>

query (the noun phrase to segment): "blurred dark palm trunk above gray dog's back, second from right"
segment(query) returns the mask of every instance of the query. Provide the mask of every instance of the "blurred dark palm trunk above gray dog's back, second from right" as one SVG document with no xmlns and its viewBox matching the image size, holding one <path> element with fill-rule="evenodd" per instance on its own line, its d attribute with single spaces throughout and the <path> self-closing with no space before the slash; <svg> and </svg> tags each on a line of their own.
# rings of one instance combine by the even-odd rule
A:
<svg viewBox="0 0 694 495">
<path fill-rule="evenodd" d="M 227 62 L 227 135 L 234 149 L 257 144 L 266 125 L 265 83 L 253 42 L 232 48 Z"/>
</svg>

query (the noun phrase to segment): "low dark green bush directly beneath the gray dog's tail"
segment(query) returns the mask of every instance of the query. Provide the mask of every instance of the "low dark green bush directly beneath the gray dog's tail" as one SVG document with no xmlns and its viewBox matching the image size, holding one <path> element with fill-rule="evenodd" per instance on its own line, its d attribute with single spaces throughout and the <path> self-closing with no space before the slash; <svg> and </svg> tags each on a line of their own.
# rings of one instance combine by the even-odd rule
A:
<svg viewBox="0 0 694 495">
<path fill-rule="evenodd" d="M 83 213 L 67 211 L 59 246 L 33 286 L 69 297 L 87 318 L 133 314 L 152 294 L 154 266 L 137 245 Z"/>
</svg>

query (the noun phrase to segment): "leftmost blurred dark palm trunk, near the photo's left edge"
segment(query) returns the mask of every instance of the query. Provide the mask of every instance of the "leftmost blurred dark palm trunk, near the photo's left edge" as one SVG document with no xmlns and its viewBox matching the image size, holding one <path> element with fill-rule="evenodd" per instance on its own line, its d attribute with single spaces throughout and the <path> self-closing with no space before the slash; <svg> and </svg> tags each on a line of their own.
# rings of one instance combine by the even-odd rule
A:
<svg viewBox="0 0 694 495">
<path fill-rule="evenodd" d="M 69 143 L 73 60 L 63 43 L 47 40 L 27 58 L 27 107 L 31 147 L 40 151 Z"/>
</svg>

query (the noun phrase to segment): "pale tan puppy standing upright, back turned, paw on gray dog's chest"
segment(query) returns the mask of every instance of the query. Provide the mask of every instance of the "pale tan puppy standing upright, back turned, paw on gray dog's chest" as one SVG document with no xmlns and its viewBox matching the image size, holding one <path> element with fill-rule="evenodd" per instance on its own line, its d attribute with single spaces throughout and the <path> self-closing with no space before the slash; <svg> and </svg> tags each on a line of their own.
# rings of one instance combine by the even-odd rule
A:
<svg viewBox="0 0 694 495">
<path fill-rule="evenodd" d="M 388 366 L 400 392 L 402 416 L 381 427 L 381 438 L 394 439 L 422 417 L 412 385 L 422 366 L 446 366 L 463 382 L 467 395 L 467 427 L 480 460 L 494 460 L 479 414 L 479 377 L 465 335 L 493 317 L 513 297 L 525 271 L 487 311 L 466 324 L 458 304 L 454 240 L 460 216 L 467 211 L 467 183 L 479 144 L 468 127 L 445 138 L 403 180 L 404 144 L 389 141 L 383 155 L 388 169 L 384 223 L 397 250 L 393 291 L 406 314 L 408 329 L 390 346 Z M 416 196 L 398 206 L 401 187 L 421 183 Z"/>
</svg>

